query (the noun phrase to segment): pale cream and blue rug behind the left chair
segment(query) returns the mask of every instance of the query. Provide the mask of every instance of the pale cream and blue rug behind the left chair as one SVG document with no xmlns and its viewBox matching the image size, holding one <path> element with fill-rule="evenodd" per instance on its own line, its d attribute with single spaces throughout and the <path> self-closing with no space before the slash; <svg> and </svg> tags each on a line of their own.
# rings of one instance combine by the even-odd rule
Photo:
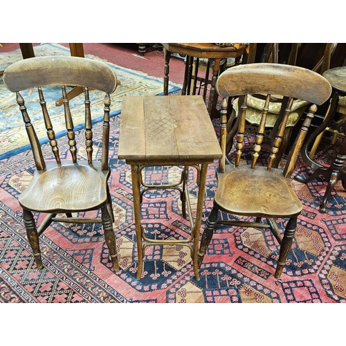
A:
<svg viewBox="0 0 346 346">
<path fill-rule="evenodd" d="M 60 44 L 41 44 L 34 47 L 35 56 L 46 55 L 71 55 L 70 50 Z M 89 59 L 101 60 L 99 57 L 93 55 L 85 55 Z M 10 53 L 0 53 L 0 71 L 6 69 L 7 66 L 22 60 L 20 49 Z M 104 61 L 104 60 L 103 60 Z M 121 98 L 124 95 L 162 95 L 163 94 L 163 80 L 158 78 L 151 78 L 144 73 L 132 71 L 129 69 L 116 66 L 110 62 L 106 62 L 115 71 L 120 85 L 116 91 L 111 95 L 111 116 L 116 116 L 120 113 Z M 181 86 L 170 83 L 169 93 L 181 89 Z M 25 91 L 22 93 L 24 100 L 26 100 L 26 107 L 28 108 L 29 116 L 32 122 L 39 128 L 37 136 L 41 143 L 46 143 L 46 130 L 44 128 L 43 120 L 39 116 L 39 109 L 37 104 L 33 107 L 32 102 L 38 100 L 38 93 L 36 89 Z M 64 125 L 60 121 L 61 114 L 64 113 L 64 106 L 56 107 L 55 101 L 59 100 L 61 89 L 58 86 L 46 88 L 45 91 L 47 108 L 52 116 L 57 138 L 66 133 Z M 103 93 L 100 91 L 91 91 L 91 115 L 93 123 L 102 120 L 102 107 L 100 102 L 103 101 Z M 79 95 L 70 101 L 71 110 L 77 116 L 74 120 L 75 129 L 82 128 L 84 122 L 84 97 Z M 39 105 L 38 105 L 39 107 Z M 8 156 L 23 152 L 28 149 L 29 142 L 26 136 L 24 122 L 21 118 L 19 108 L 15 99 L 15 94 L 6 89 L 3 84 L 2 77 L 0 78 L 0 159 Z"/>
</svg>

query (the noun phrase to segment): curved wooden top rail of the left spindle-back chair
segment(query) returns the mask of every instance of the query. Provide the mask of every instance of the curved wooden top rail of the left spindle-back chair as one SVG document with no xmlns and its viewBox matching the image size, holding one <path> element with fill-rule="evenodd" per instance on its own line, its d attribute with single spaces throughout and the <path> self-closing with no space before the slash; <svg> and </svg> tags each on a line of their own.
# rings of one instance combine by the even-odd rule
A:
<svg viewBox="0 0 346 346">
<path fill-rule="evenodd" d="M 88 86 L 113 93 L 117 78 L 104 62 L 85 57 L 34 57 L 8 66 L 3 82 L 12 91 L 47 85 Z"/>
</svg>

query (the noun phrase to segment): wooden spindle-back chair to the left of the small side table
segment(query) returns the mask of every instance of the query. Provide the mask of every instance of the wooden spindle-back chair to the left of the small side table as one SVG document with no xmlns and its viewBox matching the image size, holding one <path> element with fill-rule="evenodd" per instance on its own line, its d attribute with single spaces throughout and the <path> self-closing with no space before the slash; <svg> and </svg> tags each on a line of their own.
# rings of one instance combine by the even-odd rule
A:
<svg viewBox="0 0 346 346">
<path fill-rule="evenodd" d="M 36 165 L 33 180 L 19 196 L 19 204 L 23 208 L 24 224 L 28 241 L 33 249 L 37 268 L 42 269 L 42 256 L 39 250 L 39 235 L 52 221 L 89 224 L 101 223 L 104 237 L 109 248 L 114 271 L 119 270 L 116 253 L 116 238 L 113 233 L 113 210 L 111 195 L 107 181 L 109 168 L 109 111 L 110 96 L 117 86 L 117 78 L 113 70 L 95 60 L 83 57 L 33 57 L 15 62 L 8 66 L 3 74 L 3 82 L 7 88 L 17 95 L 17 103 L 25 122 L 26 131 L 33 150 Z M 66 123 L 66 141 L 69 144 L 71 159 L 60 158 L 57 139 L 44 100 L 45 86 L 62 86 L 64 116 Z M 66 86 L 82 86 L 85 88 L 85 146 L 86 159 L 78 156 L 73 116 L 69 107 Z M 46 151 L 42 150 L 37 135 L 29 118 L 21 91 L 37 87 L 39 93 L 38 109 L 46 126 L 46 133 L 55 159 L 45 159 Z M 91 109 L 89 88 L 104 91 L 104 117 L 102 132 L 102 154 L 93 159 L 93 132 L 91 125 Z M 101 210 L 101 218 L 78 217 L 78 212 Z M 33 212 L 46 213 L 44 221 L 37 228 Z M 66 215 L 66 217 L 64 217 Z M 87 215 L 87 214 L 86 214 Z"/>
</svg>

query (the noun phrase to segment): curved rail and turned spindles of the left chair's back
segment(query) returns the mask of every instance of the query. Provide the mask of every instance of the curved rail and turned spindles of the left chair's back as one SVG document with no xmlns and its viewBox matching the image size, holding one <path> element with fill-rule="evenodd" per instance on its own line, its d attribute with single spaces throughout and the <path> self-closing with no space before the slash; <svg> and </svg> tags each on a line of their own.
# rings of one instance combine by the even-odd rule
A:
<svg viewBox="0 0 346 346">
<path fill-rule="evenodd" d="M 81 86 L 85 90 L 85 145 L 89 164 L 92 164 L 93 161 L 93 132 L 89 91 L 91 91 L 91 89 L 103 91 L 105 94 L 101 167 L 102 170 L 108 170 L 109 112 L 111 104 L 109 94 L 113 93 L 116 89 L 117 78 L 113 70 L 107 64 L 84 57 L 33 57 L 15 62 L 8 66 L 3 73 L 3 82 L 10 91 L 17 95 L 17 103 L 19 104 L 19 109 L 26 125 L 26 131 L 33 149 L 37 170 L 44 170 L 46 163 L 35 128 L 30 120 L 24 98 L 21 96 L 20 91 L 33 88 L 38 89 L 39 104 L 41 105 L 38 109 L 42 110 L 46 134 L 51 144 L 55 161 L 58 165 L 61 163 L 60 153 L 57 147 L 57 140 L 55 138 L 51 117 L 48 113 L 46 100 L 44 99 L 43 87 L 62 86 L 62 99 L 64 104 L 64 115 L 62 115 L 62 117 L 64 117 L 73 163 L 77 163 L 77 147 L 75 142 L 73 115 L 71 114 L 66 88 L 67 86 Z"/>
</svg>

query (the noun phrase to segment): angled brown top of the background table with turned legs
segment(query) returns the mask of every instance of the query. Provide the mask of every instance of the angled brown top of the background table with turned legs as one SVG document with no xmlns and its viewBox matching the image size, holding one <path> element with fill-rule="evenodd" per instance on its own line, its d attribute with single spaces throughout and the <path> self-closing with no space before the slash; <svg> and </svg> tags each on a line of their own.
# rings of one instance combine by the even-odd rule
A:
<svg viewBox="0 0 346 346">
<path fill-rule="evenodd" d="M 243 55 L 247 44 L 235 43 L 234 46 L 220 47 L 215 43 L 163 43 L 167 51 L 192 57 L 222 59 L 224 57 L 239 57 Z"/>
</svg>

